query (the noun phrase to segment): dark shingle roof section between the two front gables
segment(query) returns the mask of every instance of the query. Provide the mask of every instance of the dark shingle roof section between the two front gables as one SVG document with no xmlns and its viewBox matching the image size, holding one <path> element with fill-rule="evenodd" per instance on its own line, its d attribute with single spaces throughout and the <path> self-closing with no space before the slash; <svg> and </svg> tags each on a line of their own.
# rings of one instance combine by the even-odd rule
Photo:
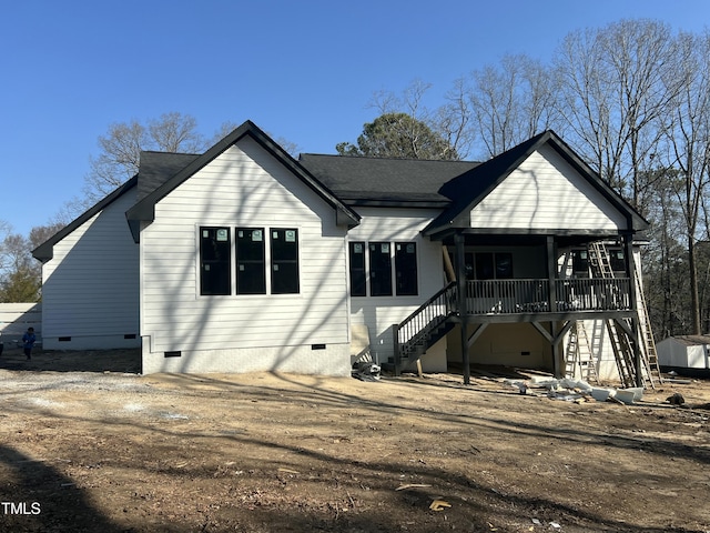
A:
<svg viewBox="0 0 710 533">
<path fill-rule="evenodd" d="M 479 163 L 303 153 L 301 164 L 351 205 L 444 208 L 442 187 Z"/>
</svg>

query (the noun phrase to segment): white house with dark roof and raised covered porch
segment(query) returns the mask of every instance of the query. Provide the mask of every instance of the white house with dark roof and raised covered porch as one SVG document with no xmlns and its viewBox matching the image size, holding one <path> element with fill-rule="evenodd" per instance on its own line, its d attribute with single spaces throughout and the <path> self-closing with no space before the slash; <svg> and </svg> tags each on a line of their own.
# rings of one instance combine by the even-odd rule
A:
<svg viewBox="0 0 710 533">
<path fill-rule="evenodd" d="M 632 335 L 646 225 L 551 131 L 480 164 L 296 161 L 245 122 L 203 154 L 144 152 L 136 177 L 34 250 L 43 342 L 140 345 L 144 373 L 346 375 L 366 328 L 397 371 L 560 374 L 571 324 Z M 579 266 L 599 241 L 616 245 L 612 279 Z"/>
</svg>

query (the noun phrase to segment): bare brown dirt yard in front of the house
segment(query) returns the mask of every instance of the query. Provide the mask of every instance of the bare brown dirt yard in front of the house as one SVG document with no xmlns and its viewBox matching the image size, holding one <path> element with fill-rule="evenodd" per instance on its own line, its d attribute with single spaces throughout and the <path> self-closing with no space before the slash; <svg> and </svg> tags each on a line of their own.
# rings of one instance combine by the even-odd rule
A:
<svg viewBox="0 0 710 533">
<path fill-rule="evenodd" d="M 710 531 L 708 381 L 627 406 L 490 376 L 138 369 L 6 350 L 0 531 Z"/>
</svg>

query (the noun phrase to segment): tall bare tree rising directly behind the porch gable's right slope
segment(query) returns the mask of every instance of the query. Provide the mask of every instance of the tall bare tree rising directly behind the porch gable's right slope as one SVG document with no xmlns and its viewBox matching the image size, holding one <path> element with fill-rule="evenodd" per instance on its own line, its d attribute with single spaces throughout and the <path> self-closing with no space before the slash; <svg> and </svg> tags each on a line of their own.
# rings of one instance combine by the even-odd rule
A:
<svg viewBox="0 0 710 533">
<path fill-rule="evenodd" d="M 657 151 L 657 121 L 682 87 L 667 24 L 625 20 L 568 34 L 557 51 L 559 112 L 572 141 L 615 189 L 639 207 L 640 178 Z"/>
</svg>

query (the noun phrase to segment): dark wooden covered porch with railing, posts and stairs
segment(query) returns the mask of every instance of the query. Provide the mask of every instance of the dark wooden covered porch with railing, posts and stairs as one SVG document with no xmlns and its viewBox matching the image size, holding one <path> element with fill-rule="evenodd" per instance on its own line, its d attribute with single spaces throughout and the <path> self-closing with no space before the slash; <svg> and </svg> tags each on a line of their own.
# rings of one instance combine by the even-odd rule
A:
<svg viewBox="0 0 710 533">
<path fill-rule="evenodd" d="M 609 264 L 605 269 L 591 261 L 586 272 L 572 265 L 572 252 L 591 250 L 599 241 L 613 242 L 622 252 L 618 254 L 623 258 L 622 264 L 615 265 L 616 272 Z M 577 321 L 604 320 L 625 338 L 630 354 L 628 366 L 638 382 L 641 362 L 630 233 L 521 235 L 459 229 L 442 242 L 449 282 L 394 325 L 397 370 L 416 361 L 446 335 L 448 351 L 460 354 L 464 382 L 469 383 L 468 369 L 477 362 L 470 354 L 475 354 L 479 339 L 491 335 L 488 326 L 499 324 L 495 328 L 498 334 L 509 331 L 510 335 L 518 335 L 519 326 L 513 324 L 528 323 L 547 345 L 546 366 L 561 376 L 565 335 Z M 491 266 L 487 266 L 491 257 Z M 510 324 L 507 330 L 503 329 L 505 324 Z"/>
</svg>

